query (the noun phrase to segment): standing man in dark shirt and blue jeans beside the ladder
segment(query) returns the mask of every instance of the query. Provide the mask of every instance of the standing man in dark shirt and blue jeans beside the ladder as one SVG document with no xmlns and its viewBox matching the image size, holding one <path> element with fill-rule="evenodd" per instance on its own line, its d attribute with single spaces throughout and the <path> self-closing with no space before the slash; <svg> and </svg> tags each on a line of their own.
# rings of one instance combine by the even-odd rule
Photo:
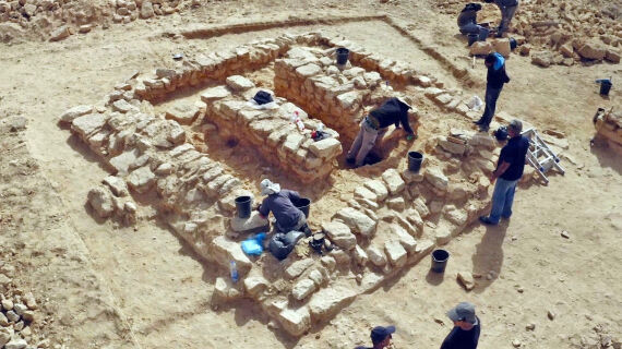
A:
<svg viewBox="0 0 622 349">
<path fill-rule="evenodd" d="M 519 120 L 512 120 L 507 125 L 510 141 L 501 149 L 497 169 L 490 176 L 490 182 L 494 183 L 490 216 L 479 217 L 485 225 L 498 225 L 501 218 L 512 216 L 514 192 L 518 180 L 523 177 L 525 156 L 529 149 L 529 140 L 521 134 L 522 131 L 523 123 Z"/>
</svg>

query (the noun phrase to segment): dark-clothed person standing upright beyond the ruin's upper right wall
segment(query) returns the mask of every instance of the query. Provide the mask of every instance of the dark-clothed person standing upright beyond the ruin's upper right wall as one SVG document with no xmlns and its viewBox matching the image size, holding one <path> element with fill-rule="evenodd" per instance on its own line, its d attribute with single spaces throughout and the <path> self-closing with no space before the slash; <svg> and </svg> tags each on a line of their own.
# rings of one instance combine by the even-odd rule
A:
<svg viewBox="0 0 622 349">
<path fill-rule="evenodd" d="M 474 121 L 474 123 L 479 125 L 479 131 L 488 132 L 490 121 L 492 121 L 494 110 L 497 109 L 497 99 L 501 95 L 503 84 L 510 82 L 510 76 L 505 73 L 505 59 L 498 52 L 486 56 L 483 64 L 488 68 L 488 74 L 486 75 L 486 108 L 483 108 L 481 118 Z"/>
</svg>

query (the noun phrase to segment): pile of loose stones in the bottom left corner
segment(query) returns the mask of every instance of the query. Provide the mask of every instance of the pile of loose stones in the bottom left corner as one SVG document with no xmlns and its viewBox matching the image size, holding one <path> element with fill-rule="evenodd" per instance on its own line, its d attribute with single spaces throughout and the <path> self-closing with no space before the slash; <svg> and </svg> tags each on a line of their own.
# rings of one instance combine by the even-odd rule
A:
<svg viewBox="0 0 622 349">
<path fill-rule="evenodd" d="M 0 279 L 4 277 L 0 274 Z M 32 325 L 38 320 L 36 310 L 37 301 L 33 293 L 0 293 L 0 348 L 22 349 L 28 347 L 28 342 L 37 340 L 33 333 Z M 45 321 L 44 321 L 45 323 Z M 36 347 L 47 345 L 47 340 L 41 340 Z"/>
</svg>

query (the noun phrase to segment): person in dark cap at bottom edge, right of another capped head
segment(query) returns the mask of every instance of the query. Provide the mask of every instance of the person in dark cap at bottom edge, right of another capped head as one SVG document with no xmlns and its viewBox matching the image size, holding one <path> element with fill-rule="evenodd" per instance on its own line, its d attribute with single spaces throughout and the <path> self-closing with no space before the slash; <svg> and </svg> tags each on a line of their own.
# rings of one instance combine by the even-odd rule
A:
<svg viewBox="0 0 622 349">
<path fill-rule="evenodd" d="M 441 349 L 476 349 L 479 342 L 480 321 L 475 315 L 475 305 L 462 302 L 447 312 L 454 328 L 445 337 Z"/>
</svg>

